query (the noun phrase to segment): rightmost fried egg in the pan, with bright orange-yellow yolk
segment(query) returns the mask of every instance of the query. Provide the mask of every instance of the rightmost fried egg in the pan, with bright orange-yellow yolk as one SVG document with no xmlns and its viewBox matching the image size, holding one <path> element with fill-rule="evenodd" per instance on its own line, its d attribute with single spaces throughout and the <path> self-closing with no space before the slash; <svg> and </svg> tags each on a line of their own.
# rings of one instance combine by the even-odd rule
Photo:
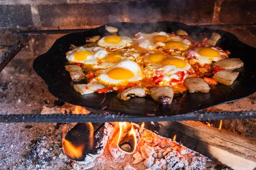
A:
<svg viewBox="0 0 256 170">
<path fill-rule="evenodd" d="M 224 51 L 218 50 L 214 47 L 203 47 L 203 48 L 195 48 L 192 51 L 189 51 L 186 54 L 186 58 L 189 59 L 190 62 L 198 62 L 201 65 L 211 64 L 212 61 L 219 61 L 222 59 L 221 55 L 227 57 L 227 54 Z M 192 58 L 191 58 L 192 57 Z"/>
</svg>

